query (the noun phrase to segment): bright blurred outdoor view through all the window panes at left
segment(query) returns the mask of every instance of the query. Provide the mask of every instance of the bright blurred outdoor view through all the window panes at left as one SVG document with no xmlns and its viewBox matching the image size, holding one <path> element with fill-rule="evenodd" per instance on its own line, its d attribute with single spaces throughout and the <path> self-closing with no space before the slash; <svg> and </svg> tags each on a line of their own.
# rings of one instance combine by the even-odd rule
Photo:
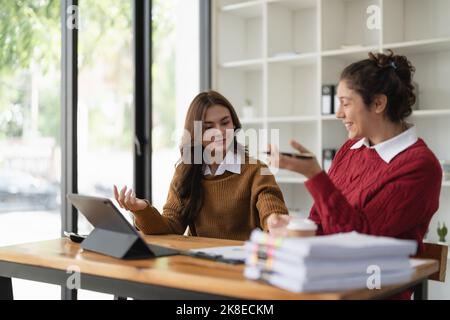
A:
<svg viewBox="0 0 450 320">
<path fill-rule="evenodd" d="M 60 5 L 59 0 L 1 3 L 0 246 L 58 238 L 61 232 Z M 194 69 L 199 4 L 153 0 L 152 5 L 157 79 L 152 179 L 158 182 L 152 200 L 162 208 L 178 157 L 177 122 L 199 90 Z M 112 197 L 113 184 L 133 186 L 132 10 L 130 0 L 78 5 L 78 188 L 83 194 Z M 180 57 L 180 50 L 190 54 Z M 177 81 L 184 85 L 177 88 Z M 78 229 L 92 230 L 82 215 Z M 13 285 L 16 299 L 60 299 L 57 286 L 15 279 Z M 79 293 L 79 299 L 90 298 L 111 297 Z"/>
</svg>

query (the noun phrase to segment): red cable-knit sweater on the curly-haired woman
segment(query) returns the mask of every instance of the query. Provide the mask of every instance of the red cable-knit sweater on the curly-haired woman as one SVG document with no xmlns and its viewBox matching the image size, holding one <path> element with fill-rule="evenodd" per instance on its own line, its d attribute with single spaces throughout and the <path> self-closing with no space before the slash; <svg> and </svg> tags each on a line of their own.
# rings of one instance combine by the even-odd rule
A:
<svg viewBox="0 0 450 320">
<path fill-rule="evenodd" d="M 422 139 L 390 163 L 374 149 L 350 149 L 356 142 L 348 140 L 341 147 L 328 175 L 321 172 L 305 183 L 314 199 L 310 219 L 319 225 L 318 233 L 357 231 L 413 239 L 420 252 L 439 207 L 439 161 Z"/>
</svg>

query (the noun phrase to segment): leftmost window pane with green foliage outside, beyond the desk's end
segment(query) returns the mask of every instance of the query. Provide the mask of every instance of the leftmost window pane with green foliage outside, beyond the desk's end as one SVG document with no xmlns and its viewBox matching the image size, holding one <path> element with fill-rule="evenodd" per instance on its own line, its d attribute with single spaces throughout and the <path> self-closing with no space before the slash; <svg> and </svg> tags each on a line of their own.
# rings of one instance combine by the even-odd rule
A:
<svg viewBox="0 0 450 320">
<path fill-rule="evenodd" d="M 0 11 L 0 246 L 59 237 L 59 1 L 8 0 Z M 14 280 L 16 299 L 59 299 Z"/>
</svg>

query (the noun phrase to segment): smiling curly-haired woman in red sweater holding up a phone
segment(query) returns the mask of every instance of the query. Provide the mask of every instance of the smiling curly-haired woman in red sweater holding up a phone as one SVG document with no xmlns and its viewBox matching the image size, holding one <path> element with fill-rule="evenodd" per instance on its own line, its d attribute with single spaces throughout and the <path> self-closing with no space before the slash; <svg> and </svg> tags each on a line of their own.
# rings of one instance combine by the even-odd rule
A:
<svg viewBox="0 0 450 320">
<path fill-rule="evenodd" d="M 442 169 L 405 119 L 415 103 L 415 68 L 404 56 L 369 54 L 340 77 L 336 117 L 349 140 L 325 173 L 316 159 L 272 152 L 272 165 L 305 175 L 319 234 L 360 233 L 422 240 L 439 207 Z M 308 152 L 295 141 L 291 145 Z M 273 148 L 273 147 L 272 147 Z M 277 157 L 279 157 L 277 159 Z M 280 218 L 279 226 L 287 219 Z"/>
</svg>

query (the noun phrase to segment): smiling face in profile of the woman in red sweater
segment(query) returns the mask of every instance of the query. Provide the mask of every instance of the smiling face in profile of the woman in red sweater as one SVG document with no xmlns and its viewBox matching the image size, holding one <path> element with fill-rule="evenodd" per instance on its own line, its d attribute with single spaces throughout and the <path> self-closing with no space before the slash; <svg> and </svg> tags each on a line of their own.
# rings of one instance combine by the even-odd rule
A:
<svg viewBox="0 0 450 320">
<path fill-rule="evenodd" d="M 350 139 L 369 137 L 379 119 L 375 108 L 368 108 L 361 95 L 350 89 L 345 80 L 339 83 L 337 95 L 340 105 L 336 118 L 344 123 L 348 137 Z"/>
</svg>

